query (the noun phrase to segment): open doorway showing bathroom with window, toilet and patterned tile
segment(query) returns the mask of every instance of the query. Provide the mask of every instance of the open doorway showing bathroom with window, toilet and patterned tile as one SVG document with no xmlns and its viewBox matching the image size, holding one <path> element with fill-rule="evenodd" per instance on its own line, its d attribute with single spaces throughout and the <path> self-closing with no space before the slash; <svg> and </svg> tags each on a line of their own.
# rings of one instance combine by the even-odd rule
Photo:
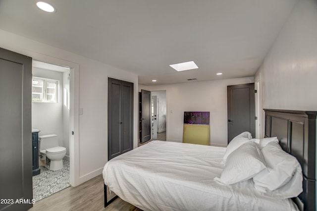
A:
<svg viewBox="0 0 317 211">
<path fill-rule="evenodd" d="M 37 148 L 37 150 L 33 149 L 35 201 L 46 198 L 71 184 L 70 79 L 69 67 L 38 60 L 32 62 L 32 137 L 37 137 L 34 141 L 38 141 L 37 145 L 36 143 L 33 145 L 33 148 Z M 46 147 L 43 144 L 46 140 L 50 141 L 50 149 L 60 150 L 61 159 L 58 162 L 62 166 L 57 170 L 52 168 L 52 161 L 47 158 L 47 149 L 44 149 Z"/>
</svg>

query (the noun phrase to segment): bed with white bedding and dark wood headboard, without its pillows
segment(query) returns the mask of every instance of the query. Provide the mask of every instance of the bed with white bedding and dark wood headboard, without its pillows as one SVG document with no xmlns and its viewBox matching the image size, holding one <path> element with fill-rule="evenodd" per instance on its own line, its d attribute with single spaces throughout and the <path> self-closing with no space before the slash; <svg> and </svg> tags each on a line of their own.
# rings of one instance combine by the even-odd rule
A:
<svg viewBox="0 0 317 211">
<path fill-rule="evenodd" d="M 142 210 L 315 210 L 316 113 L 265 109 L 265 137 L 276 136 L 303 169 L 303 193 L 272 198 L 254 188 L 252 179 L 223 185 L 226 148 L 152 141 L 109 160 L 106 188 Z M 313 150 L 312 150 L 313 149 Z"/>
</svg>

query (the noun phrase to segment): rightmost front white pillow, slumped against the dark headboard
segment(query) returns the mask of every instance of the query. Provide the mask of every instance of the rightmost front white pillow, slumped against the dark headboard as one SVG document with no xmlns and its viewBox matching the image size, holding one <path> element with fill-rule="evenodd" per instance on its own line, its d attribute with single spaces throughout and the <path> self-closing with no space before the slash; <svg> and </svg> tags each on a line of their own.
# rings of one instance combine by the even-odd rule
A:
<svg viewBox="0 0 317 211">
<path fill-rule="evenodd" d="M 284 152 L 276 141 L 269 142 L 262 149 L 262 153 L 267 168 L 253 177 L 257 190 L 274 191 L 288 183 L 296 171 L 299 170 L 301 174 L 301 166 L 297 159 Z M 298 179 L 298 184 L 294 184 L 295 189 L 302 188 L 302 179 L 300 177 Z"/>
</svg>

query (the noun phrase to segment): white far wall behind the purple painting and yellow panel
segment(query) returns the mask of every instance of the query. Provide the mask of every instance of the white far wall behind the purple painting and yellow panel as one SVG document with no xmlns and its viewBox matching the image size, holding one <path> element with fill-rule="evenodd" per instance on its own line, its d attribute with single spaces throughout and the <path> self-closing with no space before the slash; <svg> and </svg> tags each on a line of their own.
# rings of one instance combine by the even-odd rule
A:
<svg viewBox="0 0 317 211">
<path fill-rule="evenodd" d="M 182 142 L 184 111 L 210 111 L 210 144 L 227 146 L 227 86 L 253 83 L 253 77 L 170 84 L 139 85 L 139 90 L 166 90 L 167 141 Z"/>
</svg>

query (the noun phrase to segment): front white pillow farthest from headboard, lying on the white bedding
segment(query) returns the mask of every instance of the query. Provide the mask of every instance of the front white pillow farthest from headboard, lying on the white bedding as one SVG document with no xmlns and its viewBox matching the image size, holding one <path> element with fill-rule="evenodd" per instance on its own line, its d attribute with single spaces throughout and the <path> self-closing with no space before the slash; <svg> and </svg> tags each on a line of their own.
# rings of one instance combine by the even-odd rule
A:
<svg viewBox="0 0 317 211">
<path fill-rule="evenodd" d="M 222 185 L 230 185 L 252 178 L 265 168 L 265 161 L 258 144 L 249 141 L 231 153 L 221 172 L 214 180 Z"/>
</svg>

